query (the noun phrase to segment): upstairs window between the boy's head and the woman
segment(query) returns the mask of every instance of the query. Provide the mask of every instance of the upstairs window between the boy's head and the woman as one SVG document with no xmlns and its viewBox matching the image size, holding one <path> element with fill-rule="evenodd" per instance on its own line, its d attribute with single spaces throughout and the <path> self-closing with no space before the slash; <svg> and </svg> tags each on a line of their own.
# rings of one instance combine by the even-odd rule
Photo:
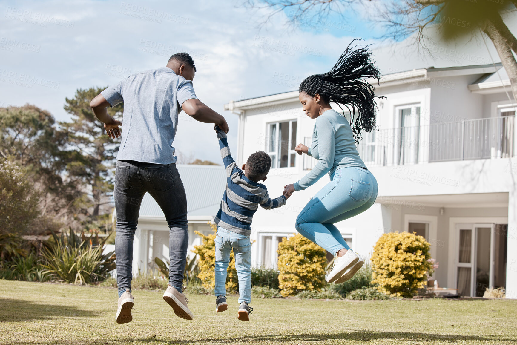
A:
<svg viewBox="0 0 517 345">
<path fill-rule="evenodd" d="M 294 167 L 296 161 L 296 120 L 268 125 L 267 153 L 271 168 Z"/>
</svg>

